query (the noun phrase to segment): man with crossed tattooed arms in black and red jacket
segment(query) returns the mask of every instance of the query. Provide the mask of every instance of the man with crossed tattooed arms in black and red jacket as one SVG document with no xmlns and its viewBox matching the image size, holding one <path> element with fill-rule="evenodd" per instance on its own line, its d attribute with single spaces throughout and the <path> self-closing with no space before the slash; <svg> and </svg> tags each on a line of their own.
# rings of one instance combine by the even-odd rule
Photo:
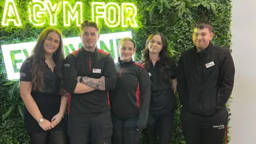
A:
<svg viewBox="0 0 256 144">
<path fill-rule="evenodd" d="M 70 93 L 68 137 L 70 144 L 111 143 L 109 94 L 116 86 L 114 59 L 97 48 L 99 27 L 85 20 L 79 36 L 82 48 L 67 55 L 63 85 Z"/>
</svg>

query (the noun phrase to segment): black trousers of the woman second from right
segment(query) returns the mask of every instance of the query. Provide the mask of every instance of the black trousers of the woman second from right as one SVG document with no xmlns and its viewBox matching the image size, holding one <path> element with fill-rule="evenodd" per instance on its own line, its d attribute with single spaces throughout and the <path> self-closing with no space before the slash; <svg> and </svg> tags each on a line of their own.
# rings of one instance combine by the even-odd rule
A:
<svg viewBox="0 0 256 144">
<path fill-rule="evenodd" d="M 147 127 L 145 129 L 147 144 L 170 144 L 174 126 L 174 109 L 167 114 L 148 115 Z M 158 142 L 157 142 L 158 136 Z"/>
</svg>

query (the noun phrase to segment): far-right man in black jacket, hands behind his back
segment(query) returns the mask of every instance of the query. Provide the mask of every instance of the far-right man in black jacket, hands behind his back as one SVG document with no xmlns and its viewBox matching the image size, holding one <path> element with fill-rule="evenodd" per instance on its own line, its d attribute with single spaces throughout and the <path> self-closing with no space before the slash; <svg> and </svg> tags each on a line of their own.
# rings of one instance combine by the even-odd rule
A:
<svg viewBox="0 0 256 144">
<path fill-rule="evenodd" d="M 222 144 L 235 67 L 229 49 L 213 45 L 212 26 L 197 22 L 193 42 L 182 53 L 177 81 L 182 105 L 181 123 L 187 144 Z"/>
</svg>

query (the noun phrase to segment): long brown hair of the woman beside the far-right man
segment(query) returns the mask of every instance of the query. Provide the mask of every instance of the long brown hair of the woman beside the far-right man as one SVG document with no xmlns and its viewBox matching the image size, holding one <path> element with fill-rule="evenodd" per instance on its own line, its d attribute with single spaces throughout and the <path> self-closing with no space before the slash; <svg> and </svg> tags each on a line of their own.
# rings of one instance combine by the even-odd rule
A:
<svg viewBox="0 0 256 144">
<path fill-rule="evenodd" d="M 167 39 L 165 38 L 164 34 L 162 33 L 153 33 L 151 34 L 146 41 L 145 48 L 142 51 L 142 59 L 141 59 L 141 64 L 145 66 L 145 68 L 148 70 L 149 69 L 149 49 L 148 49 L 148 43 L 151 41 L 151 39 L 155 36 L 159 35 L 162 40 L 163 44 L 163 49 L 159 52 L 159 58 L 160 58 L 160 63 L 159 63 L 159 71 L 162 77 L 165 79 L 169 78 L 169 74 L 171 73 L 171 65 L 173 64 L 170 55 L 168 54 L 167 47 Z M 172 74 L 171 74 L 172 75 Z"/>
</svg>

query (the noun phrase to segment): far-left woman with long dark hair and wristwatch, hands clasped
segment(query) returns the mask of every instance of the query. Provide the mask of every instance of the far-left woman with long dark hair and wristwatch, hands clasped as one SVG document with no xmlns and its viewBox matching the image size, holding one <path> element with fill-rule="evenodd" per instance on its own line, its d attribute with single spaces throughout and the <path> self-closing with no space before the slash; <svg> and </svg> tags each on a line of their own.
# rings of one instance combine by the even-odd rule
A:
<svg viewBox="0 0 256 144">
<path fill-rule="evenodd" d="M 24 122 L 32 144 L 68 143 L 63 120 L 68 102 L 67 92 L 62 89 L 63 60 L 61 31 L 46 28 L 20 68 Z"/>
</svg>

